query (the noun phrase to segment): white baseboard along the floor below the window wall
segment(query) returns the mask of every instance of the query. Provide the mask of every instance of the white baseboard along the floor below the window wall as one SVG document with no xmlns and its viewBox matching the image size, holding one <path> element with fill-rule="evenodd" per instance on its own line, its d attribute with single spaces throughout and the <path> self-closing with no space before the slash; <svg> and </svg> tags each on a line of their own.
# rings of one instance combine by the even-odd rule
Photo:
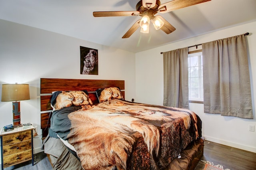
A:
<svg viewBox="0 0 256 170">
<path fill-rule="evenodd" d="M 233 143 L 233 142 L 226 141 L 226 140 L 221 140 L 221 139 L 218 139 L 218 138 L 212 138 L 210 136 L 204 136 L 204 137 L 205 137 L 205 140 L 208 140 L 208 141 L 211 141 L 211 142 L 224 144 L 226 146 L 231 146 L 231 147 L 234 147 L 234 148 L 247 150 L 249 152 L 256 153 L 256 148 L 253 148 L 253 147 L 250 147 L 250 146 L 246 146 L 246 145 L 242 145 L 242 144 L 238 144 L 238 143 Z"/>
</svg>

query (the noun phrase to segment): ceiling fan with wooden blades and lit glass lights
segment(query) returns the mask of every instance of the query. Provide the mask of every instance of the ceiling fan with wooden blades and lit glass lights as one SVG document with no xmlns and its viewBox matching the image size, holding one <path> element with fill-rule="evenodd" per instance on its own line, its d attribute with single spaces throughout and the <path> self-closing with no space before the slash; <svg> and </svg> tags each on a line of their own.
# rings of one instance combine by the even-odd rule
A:
<svg viewBox="0 0 256 170">
<path fill-rule="evenodd" d="M 161 4 L 160 0 L 140 0 L 136 5 L 137 11 L 104 11 L 104 12 L 93 12 L 94 17 L 106 17 L 106 16 L 141 16 L 142 19 L 135 22 L 135 24 L 124 34 L 122 38 L 129 38 L 139 27 L 140 32 L 149 32 L 149 23 L 152 23 L 156 30 L 161 29 L 166 34 L 174 32 L 174 28 L 168 21 L 162 16 L 155 16 L 156 13 L 166 13 L 187 6 L 200 4 L 210 0 L 172 0 Z"/>
</svg>

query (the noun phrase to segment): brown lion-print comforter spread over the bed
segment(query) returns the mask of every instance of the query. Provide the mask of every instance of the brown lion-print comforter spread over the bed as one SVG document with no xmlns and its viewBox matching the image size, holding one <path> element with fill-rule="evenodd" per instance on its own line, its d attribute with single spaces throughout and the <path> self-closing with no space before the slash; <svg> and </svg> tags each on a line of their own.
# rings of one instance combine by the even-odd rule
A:
<svg viewBox="0 0 256 170">
<path fill-rule="evenodd" d="M 85 170 L 158 170 L 201 137 L 192 111 L 114 99 L 54 111 L 50 136 L 68 140 Z"/>
</svg>

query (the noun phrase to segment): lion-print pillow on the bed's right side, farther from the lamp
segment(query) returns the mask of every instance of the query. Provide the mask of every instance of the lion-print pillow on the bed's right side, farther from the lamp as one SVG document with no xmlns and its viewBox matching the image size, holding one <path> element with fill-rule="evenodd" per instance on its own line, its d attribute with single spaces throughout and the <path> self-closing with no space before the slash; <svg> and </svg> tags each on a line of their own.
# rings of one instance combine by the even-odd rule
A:
<svg viewBox="0 0 256 170">
<path fill-rule="evenodd" d="M 96 90 L 99 103 L 112 99 L 124 99 L 119 87 L 108 87 Z"/>
</svg>

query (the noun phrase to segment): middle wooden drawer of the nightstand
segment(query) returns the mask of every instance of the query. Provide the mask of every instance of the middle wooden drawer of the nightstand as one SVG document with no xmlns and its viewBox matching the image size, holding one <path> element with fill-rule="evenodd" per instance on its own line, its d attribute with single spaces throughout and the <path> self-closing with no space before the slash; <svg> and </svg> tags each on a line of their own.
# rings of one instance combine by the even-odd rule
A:
<svg viewBox="0 0 256 170">
<path fill-rule="evenodd" d="M 31 140 L 3 146 L 3 155 L 7 156 L 25 150 L 31 150 Z"/>
</svg>

